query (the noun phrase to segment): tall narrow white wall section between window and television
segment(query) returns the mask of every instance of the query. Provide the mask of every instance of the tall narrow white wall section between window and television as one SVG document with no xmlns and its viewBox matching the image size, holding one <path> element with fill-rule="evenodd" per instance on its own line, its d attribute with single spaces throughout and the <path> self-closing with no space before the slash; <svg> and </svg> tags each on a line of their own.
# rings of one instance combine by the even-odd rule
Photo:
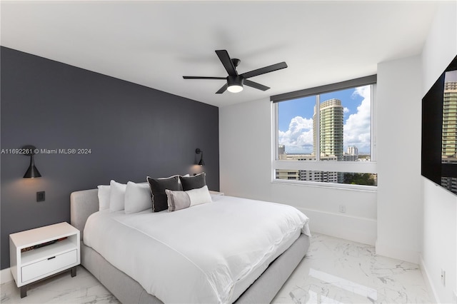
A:
<svg viewBox="0 0 457 304">
<path fill-rule="evenodd" d="M 422 244 L 421 57 L 378 64 L 376 253 L 419 262 Z"/>
</svg>

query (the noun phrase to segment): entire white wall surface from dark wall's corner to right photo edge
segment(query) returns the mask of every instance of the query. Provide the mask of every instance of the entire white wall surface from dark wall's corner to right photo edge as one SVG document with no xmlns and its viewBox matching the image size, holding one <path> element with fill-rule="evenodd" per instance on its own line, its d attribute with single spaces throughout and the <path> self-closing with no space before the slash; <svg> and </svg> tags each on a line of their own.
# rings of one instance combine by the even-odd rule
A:
<svg viewBox="0 0 457 304">
<path fill-rule="evenodd" d="M 227 195 L 296 206 L 316 232 L 377 238 L 377 253 L 421 262 L 436 300 L 455 303 L 456 196 L 422 178 L 420 162 L 421 98 L 457 54 L 456 2 L 440 5 L 423 54 L 378 64 L 377 193 L 271 183 L 268 99 L 219 108 L 220 173 Z"/>
</svg>

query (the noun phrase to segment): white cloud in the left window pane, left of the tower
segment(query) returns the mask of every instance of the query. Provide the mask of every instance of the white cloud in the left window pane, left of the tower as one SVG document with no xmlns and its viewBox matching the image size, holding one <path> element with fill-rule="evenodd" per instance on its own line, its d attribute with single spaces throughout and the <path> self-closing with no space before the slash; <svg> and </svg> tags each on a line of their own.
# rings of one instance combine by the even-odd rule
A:
<svg viewBox="0 0 457 304">
<path fill-rule="evenodd" d="M 288 130 L 278 132 L 278 142 L 286 146 L 287 153 L 312 153 L 313 119 L 301 116 L 292 118 Z"/>
</svg>

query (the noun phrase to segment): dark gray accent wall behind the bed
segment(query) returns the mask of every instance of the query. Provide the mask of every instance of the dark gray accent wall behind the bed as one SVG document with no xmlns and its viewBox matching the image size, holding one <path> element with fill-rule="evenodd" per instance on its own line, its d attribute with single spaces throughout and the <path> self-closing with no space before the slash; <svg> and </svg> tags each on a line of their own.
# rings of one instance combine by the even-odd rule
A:
<svg viewBox="0 0 457 304">
<path fill-rule="evenodd" d="M 0 56 L 1 269 L 9 234 L 69 221 L 73 191 L 201 171 L 219 190 L 217 107 L 5 47 Z M 29 144 L 91 153 L 39 153 L 42 177 L 22 178 L 30 158 L 8 149 Z"/>
</svg>

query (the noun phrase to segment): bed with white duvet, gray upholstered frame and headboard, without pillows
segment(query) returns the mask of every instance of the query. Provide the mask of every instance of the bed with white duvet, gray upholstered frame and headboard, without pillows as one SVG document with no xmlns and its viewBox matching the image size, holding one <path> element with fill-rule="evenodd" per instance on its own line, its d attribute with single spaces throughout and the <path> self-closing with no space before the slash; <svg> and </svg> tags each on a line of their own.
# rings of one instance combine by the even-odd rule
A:
<svg viewBox="0 0 457 304">
<path fill-rule="evenodd" d="M 270 303 L 309 247 L 308 218 L 291 206 L 211 195 L 181 211 L 126 214 L 99 210 L 98 193 L 71 193 L 71 225 L 81 231 L 81 265 L 121 303 Z M 291 214 L 286 228 L 268 224 L 281 212 Z M 262 221 L 253 225 L 250 213 Z M 194 221 L 182 227 L 186 218 Z"/>
</svg>

